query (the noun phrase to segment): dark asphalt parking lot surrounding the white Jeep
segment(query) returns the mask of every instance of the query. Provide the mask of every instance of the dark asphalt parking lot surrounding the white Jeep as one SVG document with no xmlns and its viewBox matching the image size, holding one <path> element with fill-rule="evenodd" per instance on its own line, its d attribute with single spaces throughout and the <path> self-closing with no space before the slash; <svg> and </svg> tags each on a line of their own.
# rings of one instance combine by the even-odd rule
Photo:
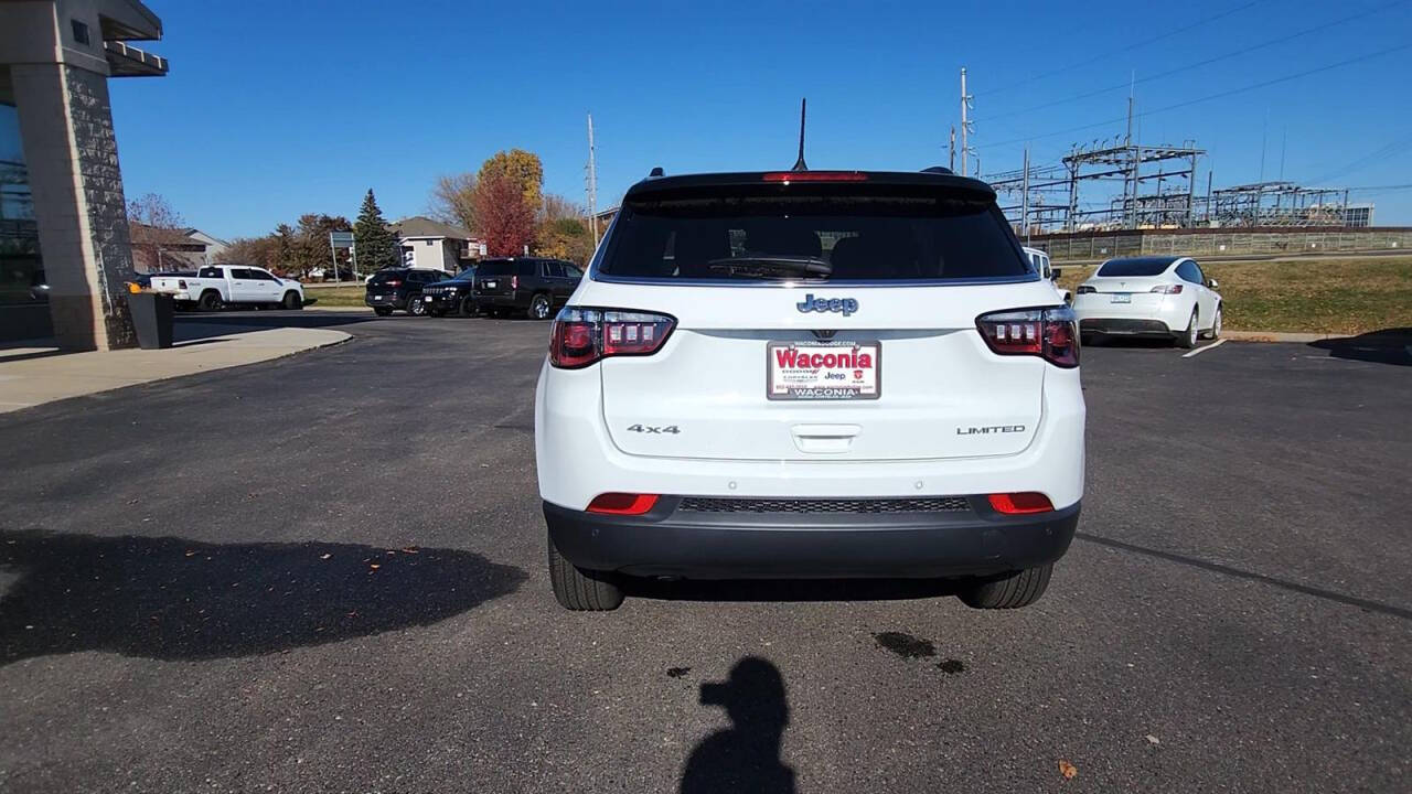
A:
<svg viewBox="0 0 1412 794">
<path fill-rule="evenodd" d="M 241 322 L 354 339 L 0 415 L 0 790 L 1406 786 L 1412 366 L 1086 349 L 1082 534 L 1024 610 L 727 582 L 583 615 L 544 564 L 546 325 Z"/>
</svg>

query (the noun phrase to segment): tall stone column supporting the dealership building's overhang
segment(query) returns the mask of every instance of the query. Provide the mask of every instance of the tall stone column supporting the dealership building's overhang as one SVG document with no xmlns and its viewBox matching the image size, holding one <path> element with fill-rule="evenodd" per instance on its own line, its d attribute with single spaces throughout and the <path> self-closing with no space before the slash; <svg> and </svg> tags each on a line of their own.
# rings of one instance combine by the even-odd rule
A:
<svg viewBox="0 0 1412 794">
<path fill-rule="evenodd" d="M 136 345 L 124 297 L 133 278 L 107 75 L 68 64 L 10 66 L 20 136 L 59 346 Z"/>
</svg>

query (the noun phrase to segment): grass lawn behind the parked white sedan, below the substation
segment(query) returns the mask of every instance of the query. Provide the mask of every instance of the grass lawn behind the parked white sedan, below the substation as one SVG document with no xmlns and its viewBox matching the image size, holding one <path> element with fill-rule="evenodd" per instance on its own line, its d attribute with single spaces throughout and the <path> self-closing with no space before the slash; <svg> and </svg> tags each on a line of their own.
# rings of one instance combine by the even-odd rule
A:
<svg viewBox="0 0 1412 794">
<path fill-rule="evenodd" d="M 1097 266 L 1056 264 L 1075 288 Z M 1213 261 L 1202 270 L 1223 298 L 1231 331 L 1365 333 L 1412 328 L 1412 256 Z"/>
</svg>

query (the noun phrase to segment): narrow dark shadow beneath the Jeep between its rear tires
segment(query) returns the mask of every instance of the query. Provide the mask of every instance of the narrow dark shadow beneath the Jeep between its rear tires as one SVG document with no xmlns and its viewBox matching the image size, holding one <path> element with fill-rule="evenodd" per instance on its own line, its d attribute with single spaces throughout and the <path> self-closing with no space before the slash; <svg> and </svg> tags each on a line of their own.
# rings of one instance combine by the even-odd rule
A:
<svg viewBox="0 0 1412 794">
<path fill-rule="evenodd" d="M 626 576 L 634 598 L 706 602 L 908 600 L 960 592 L 955 579 L 645 579 Z"/>
</svg>

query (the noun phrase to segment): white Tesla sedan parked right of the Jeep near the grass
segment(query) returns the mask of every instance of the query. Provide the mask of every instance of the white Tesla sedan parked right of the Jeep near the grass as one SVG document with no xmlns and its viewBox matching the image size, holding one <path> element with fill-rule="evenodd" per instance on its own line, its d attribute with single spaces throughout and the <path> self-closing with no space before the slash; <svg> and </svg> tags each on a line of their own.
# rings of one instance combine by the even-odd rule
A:
<svg viewBox="0 0 1412 794">
<path fill-rule="evenodd" d="M 1186 256 L 1110 259 L 1079 284 L 1073 312 L 1083 343 L 1099 335 L 1163 336 L 1182 348 L 1221 335 L 1216 280 Z"/>
</svg>

